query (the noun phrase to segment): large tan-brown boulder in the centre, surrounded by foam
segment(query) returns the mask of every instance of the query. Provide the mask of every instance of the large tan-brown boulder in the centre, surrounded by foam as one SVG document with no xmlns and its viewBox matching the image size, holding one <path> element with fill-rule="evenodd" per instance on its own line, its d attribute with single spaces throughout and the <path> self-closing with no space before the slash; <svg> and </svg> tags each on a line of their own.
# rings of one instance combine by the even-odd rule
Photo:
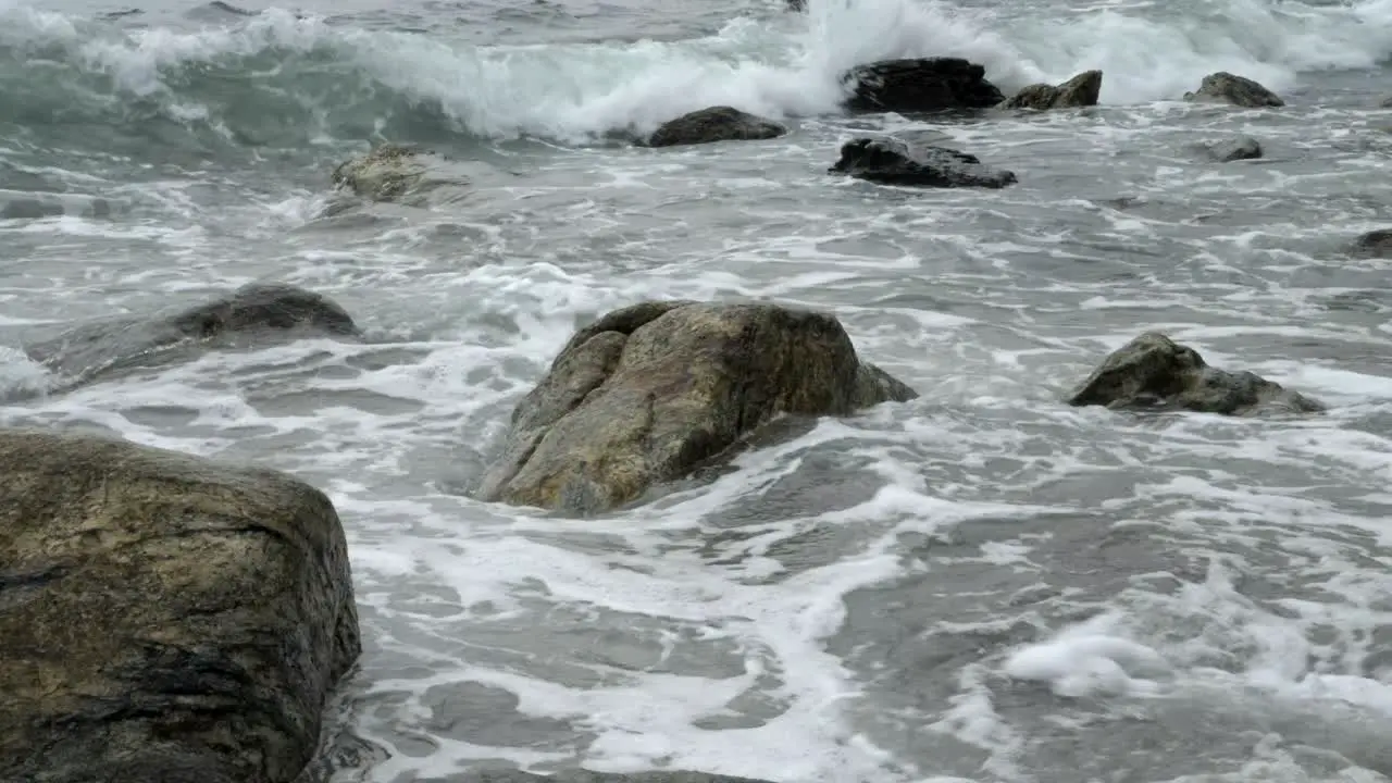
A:
<svg viewBox="0 0 1392 783">
<path fill-rule="evenodd" d="M 600 513 L 710 464 L 780 414 L 846 415 L 913 397 L 862 364 L 831 315 L 642 302 L 571 337 L 512 411 L 479 495 Z"/>
</svg>

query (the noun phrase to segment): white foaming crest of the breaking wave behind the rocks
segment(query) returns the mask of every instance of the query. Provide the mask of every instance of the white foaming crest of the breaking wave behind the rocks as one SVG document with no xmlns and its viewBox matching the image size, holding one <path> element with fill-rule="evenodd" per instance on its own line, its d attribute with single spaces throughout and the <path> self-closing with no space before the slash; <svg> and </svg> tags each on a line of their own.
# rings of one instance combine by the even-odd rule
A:
<svg viewBox="0 0 1392 783">
<path fill-rule="evenodd" d="M 316 110 L 386 89 L 438 103 L 468 131 L 575 141 L 624 127 L 651 130 L 693 109 L 734 104 L 771 117 L 835 113 L 846 68 L 881 59 L 962 56 L 1004 89 L 1105 74 L 1102 102 L 1176 100 L 1210 72 L 1239 72 L 1281 92 L 1300 72 L 1371 68 L 1392 54 L 1392 3 L 1306 6 L 1217 0 L 1183 6 L 1096 3 L 1083 8 L 1002 4 L 958 8 L 915 0 L 827 0 L 809 14 L 749 7 L 714 35 L 689 40 L 476 46 L 296 20 L 270 10 L 235 28 L 95 32 L 57 13 L 0 6 L 0 46 L 60 45 L 82 71 L 118 91 L 166 95 L 175 120 L 217 118 L 216 98 L 181 95 L 170 74 L 192 64 L 260 71 Z M 329 54 L 340 92 L 296 67 Z M 277 75 L 276 63 L 284 74 Z M 14 67 L 14 64 L 7 64 Z M 331 74 L 331 71 L 330 71 Z M 291 82 L 277 82 L 290 78 Z M 317 77 L 323 78 L 320 72 Z M 298 81 L 295 81 L 298 79 Z"/>
</svg>

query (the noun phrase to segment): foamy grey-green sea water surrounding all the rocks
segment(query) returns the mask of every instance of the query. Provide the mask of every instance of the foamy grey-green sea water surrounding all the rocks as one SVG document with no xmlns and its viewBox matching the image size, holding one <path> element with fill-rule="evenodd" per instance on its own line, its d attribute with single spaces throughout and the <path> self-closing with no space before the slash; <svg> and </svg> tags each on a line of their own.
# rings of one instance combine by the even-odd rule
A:
<svg viewBox="0 0 1392 783">
<path fill-rule="evenodd" d="M 845 67 L 930 54 L 1006 91 L 1102 68 L 1102 104 L 838 111 Z M 0 424 L 333 497 L 366 646 L 334 783 L 1386 782 L 1392 287 L 1345 251 L 1392 223 L 1389 54 L 1388 0 L 0 0 L 0 397 L 50 382 L 38 334 L 253 280 L 372 336 L 207 352 Z M 1218 70 L 1288 106 L 1180 100 Z M 792 132 L 606 141 L 717 103 Z M 866 131 L 942 132 L 1020 181 L 830 177 Z M 1267 157 L 1194 150 L 1236 135 Z M 335 202 L 333 167 L 377 141 L 473 184 Z M 601 518 L 472 499 L 569 334 L 643 298 L 825 308 L 922 397 Z M 1329 412 L 1061 403 L 1148 329 Z"/>
</svg>

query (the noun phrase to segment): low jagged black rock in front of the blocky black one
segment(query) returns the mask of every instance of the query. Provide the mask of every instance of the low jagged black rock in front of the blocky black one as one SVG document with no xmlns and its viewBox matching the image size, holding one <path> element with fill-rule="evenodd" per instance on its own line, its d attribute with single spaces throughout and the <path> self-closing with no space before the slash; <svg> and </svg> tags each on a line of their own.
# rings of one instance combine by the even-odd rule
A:
<svg viewBox="0 0 1392 783">
<path fill-rule="evenodd" d="M 885 185 L 931 188 L 1004 188 L 1016 181 L 1013 171 L 983 166 L 974 155 L 895 138 L 848 141 L 828 171 Z"/>
</svg>

